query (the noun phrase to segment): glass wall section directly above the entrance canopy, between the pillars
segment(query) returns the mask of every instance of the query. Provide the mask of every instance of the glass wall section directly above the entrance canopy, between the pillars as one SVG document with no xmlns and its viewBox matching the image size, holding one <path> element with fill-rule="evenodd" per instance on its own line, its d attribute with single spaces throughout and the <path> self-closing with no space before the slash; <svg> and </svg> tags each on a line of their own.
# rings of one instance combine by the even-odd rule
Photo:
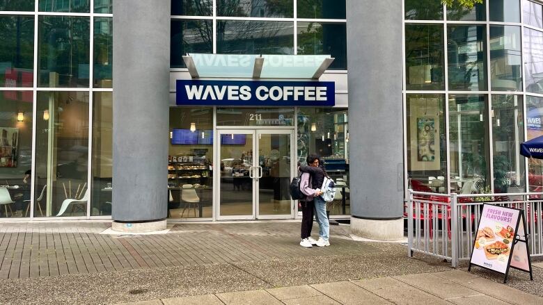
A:
<svg viewBox="0 0 543 305">
<path fill-rule="evenodd" d="M 345 0 L 299 0 L 296 16 L 293 0 L 215 2 L 171 1 L 172 68 L 186 67 L 186 53 L 215 52 L 329 54 L 329 69 L 347 69 Z"/>
</svg>

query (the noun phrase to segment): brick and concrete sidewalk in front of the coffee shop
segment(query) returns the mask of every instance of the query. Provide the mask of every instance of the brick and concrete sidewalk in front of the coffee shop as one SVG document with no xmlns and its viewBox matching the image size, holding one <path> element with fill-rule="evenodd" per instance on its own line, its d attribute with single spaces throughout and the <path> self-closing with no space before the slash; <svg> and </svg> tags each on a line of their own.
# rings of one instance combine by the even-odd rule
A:
<svg viewBox="0 0 543 305">
<path fill-rule="evenodd" d="M 408 258 L 401 244 L 353 240 L 345 225 L 331 226 L 331 247 L 311 249 L 298 245 L 300 224 L 293 221 L 184 223 L 170 226 L 165 234 L 125 236 L 103 234 L 109 225 L 2 223 L 0 304 L 115 304 L 196 295 L 217 297 L 229 304 L 228 296 L 236 297 L 238 292 L 240 296 L 271 294 L 285 304 L 304 301 L 289 301 L 299 296 L 288 294 L 292 290 L 317 290 L 322 295 L 313 297 L 330 297 L 343 304 L 356 304 L 342 301 L 341 293 L 348 297 L 354 292 L 382 301 L 391 297 L 396 304 L 420 301 L 418 297 L 423 295 L 433 296 L 432 304 L 434 297 L 453 302 L 449 298 L 462 291 L 468 291 L 470 298 L 459 299 L 457 304 L 471 303 L 475 292 L 505 302 L 521 298 L 507 299 L 495 293 L 521 290 L 532 294 L 526 299 L 543 297 L 543 270 L 539 267 L 534 267 L 535 281 L 513 270 L 507 286 L 500 283 L 500 275 L 480 268 L 473 268 L 471 274 L 456 270 L 451 279 L 445 279 L 447 273 L 439 272 L 450 272 L 450 263 L 420 255 Z M 313 230 L 317 232 L 317 227 Z M 459 276 L 458 272 L 467 275 Z M 455 275 L 459 281 L 453 279 Z M 478 276 L 473 281 L 480 286 L 468 286 L 463 278 L 473 276 Z M 380 286 L 373 289 L 363 283 Z M 390 283 L 398 287 L 391 288 Z M 443 287 L 434 289 L 432 283 Z M 466 288 L 458 289 L 457 285 Z M 304 288 L 285 288 L 290 286 Z M 337 286 L 342 289 L 334 292 Z M 485 286 L 490 290 L 484 290 Z M 246 292 L 253 290 L 257 292 Z M 383 295 L 389 290 L 395 292 Z M 407 297 L 410 294 L 415 296 Z M 537 302 L 543 304 L 541 299 Z M 247 303 L 242 300 L 242 304 Z"/>
</svg>

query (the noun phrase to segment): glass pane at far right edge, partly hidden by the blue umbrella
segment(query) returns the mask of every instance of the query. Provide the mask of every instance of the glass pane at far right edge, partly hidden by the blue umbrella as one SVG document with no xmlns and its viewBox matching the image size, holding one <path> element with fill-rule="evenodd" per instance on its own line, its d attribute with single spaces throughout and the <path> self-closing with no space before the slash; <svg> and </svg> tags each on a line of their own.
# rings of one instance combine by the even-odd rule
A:
<svg viewBox="0 0 543 305">
<path fill-rule="evenodd" d="M 543 135 L 543 98 L 526 96 L 526 140 Z M 528 190 L 543 192 L 543 160 L 528 158 Z"/>
</svg>

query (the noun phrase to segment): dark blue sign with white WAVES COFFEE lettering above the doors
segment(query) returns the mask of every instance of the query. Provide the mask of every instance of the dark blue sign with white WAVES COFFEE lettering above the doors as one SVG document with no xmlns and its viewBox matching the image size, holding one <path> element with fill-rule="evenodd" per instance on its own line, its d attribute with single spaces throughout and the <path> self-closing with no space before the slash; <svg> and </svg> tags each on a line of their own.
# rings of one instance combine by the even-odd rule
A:
<svg viewBox="0 0 543 305">
<path fill-rule="evenodd" d="M 334 106 L 333 81 L 182 81 L 178 105 Z"/>
</svg>

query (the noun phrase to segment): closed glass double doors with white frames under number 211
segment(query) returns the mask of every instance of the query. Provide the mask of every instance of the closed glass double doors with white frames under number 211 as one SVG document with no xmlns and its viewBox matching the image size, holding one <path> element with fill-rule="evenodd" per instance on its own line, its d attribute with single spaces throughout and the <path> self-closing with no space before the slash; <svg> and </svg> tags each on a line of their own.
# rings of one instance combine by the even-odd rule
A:
<svg viewBox="0 0 543 305">
<path fill-rule="evenodd" d="M 217 143 L 218 220 L 293 217 L 291 130 L 221 129 Z"/>
</svg>

